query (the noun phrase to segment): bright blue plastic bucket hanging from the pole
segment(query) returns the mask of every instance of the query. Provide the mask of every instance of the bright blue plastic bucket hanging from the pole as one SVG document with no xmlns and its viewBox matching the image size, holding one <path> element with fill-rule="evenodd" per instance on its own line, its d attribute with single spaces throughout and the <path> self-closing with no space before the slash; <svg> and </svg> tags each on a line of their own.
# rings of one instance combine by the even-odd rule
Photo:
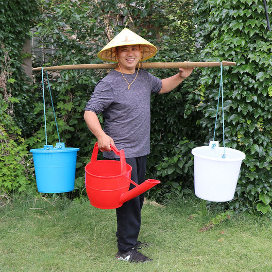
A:
<svg viewBox="0 0 272 272">
<path fill-rule="evenodd" d="M 38 191 L 41 193 L 70 192 L 75 186 L 76 157 L 79 148 L 64 143 L 31 149 Z"/>
</svg>

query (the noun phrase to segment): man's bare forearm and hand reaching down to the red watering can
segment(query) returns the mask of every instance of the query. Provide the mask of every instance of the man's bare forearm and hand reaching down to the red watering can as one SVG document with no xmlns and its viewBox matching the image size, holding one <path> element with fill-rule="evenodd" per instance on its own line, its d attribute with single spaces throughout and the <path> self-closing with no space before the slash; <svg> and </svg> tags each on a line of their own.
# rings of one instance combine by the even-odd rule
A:
<svg viewBox="0 0 272 272">
<path fill-rule="evenodd" d="M 110 144 L 115 146 L 114 141 L 102 130 L 97 115 L 92 111 L 85 111 L 84 119 L 91 133 L 97 137 L 98 148 L 100 151 L 111 151 Z"/>
</svg>

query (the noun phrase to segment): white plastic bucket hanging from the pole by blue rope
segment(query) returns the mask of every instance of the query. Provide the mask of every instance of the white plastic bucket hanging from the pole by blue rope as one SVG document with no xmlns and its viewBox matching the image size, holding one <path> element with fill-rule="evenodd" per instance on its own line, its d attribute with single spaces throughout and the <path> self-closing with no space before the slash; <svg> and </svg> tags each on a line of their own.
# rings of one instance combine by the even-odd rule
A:
<svg viewBox="0 0 272 272">
<path fill-rule="evenodd" d="M 196 147 L 194 155 L 194 181 L 197 197 L 215 202 L 230 201 L 234 197 L 242 160 L 241 151 L 223 147 Z"/>
</svg>

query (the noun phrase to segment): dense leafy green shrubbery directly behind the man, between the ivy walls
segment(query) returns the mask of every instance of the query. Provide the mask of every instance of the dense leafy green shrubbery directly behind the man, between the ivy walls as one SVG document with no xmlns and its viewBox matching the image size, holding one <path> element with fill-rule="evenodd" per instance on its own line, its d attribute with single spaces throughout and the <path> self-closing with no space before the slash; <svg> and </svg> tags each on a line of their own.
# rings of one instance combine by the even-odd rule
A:
<svg viewBox="0 0 272 272">
<path fill-rule="evenodd" d="M 120 1 L 113 0 L 101 1 L 98 6 L 95 1 L 79 3 L 65 0 L 60 4 L 43 1 L 43 6 L 44 17 L 36 26 L 36 36 L 42 38 L 45 48 L 53 45 L 56 50 L 54 56 L 48 56 L 48 63 L 40 63 L 39 59 L 36 59 L 38 66 L 100 63 L 97 53 L 124 26 L 135 30 L 159 48 L 159 53 L 150 61 L 193 60 L 193 24 L 192 20 L 187 18 L 191 10 L 191 1 L 183 3 L 177 0 L 126 0 L 121 4 Z M 75 182 L 78 193 L 84 192 L 84 166 L 90 161 L 96 141 L 85 125 L 84 108 L 95 84 L 107 72 L 49 72 L 61 141 L 66 142 L 68 146 L 80 148 Z M 176 72 L 170 69 L 152 71 L 160 78 Z M 198 139 L 200 133 L 195 122 L 201 113 L 192 111 L 191 107 L 187 106 L 187 97 L 193 95 L 197 74 L 172 93 L 152 97 L 152 153 L 148 158 L 147 178 L 158 178 L 162 181 L 162 185 L 150 193 L 155 199 L 160 199 L 171 190 L 182 194 L 186 187 L 193 186 L 190 153 L 193 143 L 188 145 L 188 139 Z M 35 77 L 37 82 L 40 82 L 40 73 L 35 73 Z M 40 121 L 40 128 L 27 142 L 32 147 L 42 147 L 45 142 L 42 98 L 36 102 L 34 112 Z M 48 141 L 53 144 L 57 141 L 57 134 L 47 90 L 46 104 Z M 102 117 L 100 120 L 102 121 Z M 178 164 L 174 167 L 176 158 Z M 170 163 L 167 164 L 167 161 Z M 160 166 L 168 172 L 167 175 L 162 174 Z"/>
</svg>

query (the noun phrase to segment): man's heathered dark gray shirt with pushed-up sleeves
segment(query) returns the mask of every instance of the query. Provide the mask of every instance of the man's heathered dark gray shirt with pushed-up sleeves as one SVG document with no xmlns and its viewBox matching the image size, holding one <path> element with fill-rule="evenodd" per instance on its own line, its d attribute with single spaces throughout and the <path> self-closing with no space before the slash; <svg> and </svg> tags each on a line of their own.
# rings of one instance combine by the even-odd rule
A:
<svg viewBox="0 0 272 272">
<path fill-rule="evenodd" d="M 134 74 L 124 74 L 131 83 Z M 127 158 L 150 153 L 150 98 L 158 93 L 162 83 L 146 70 L 139 69 L 135 82 L 128 89 L 122 74 L 112 70 L 95 86 L 85 110 L 103 113 L 104 132 L 113 138 L 116 147 Z M 113 152 L 103 152 L 106 158 L 116 158 Z"/>
</svg>

